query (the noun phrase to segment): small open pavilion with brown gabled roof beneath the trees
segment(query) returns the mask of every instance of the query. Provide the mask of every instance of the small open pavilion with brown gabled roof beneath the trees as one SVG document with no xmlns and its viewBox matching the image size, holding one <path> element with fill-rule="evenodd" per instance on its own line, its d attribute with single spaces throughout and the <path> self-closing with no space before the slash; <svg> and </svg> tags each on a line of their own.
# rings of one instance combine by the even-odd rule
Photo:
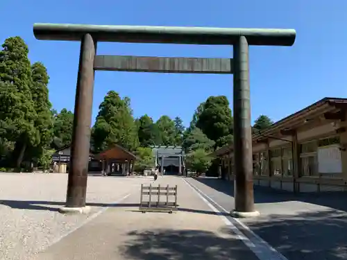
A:
<svg viewBox="0 0 347 260">
<path fill-rule="evenodd" d="M 134 162 L 137 159 L 136 155 L 117 144 L 114 144 L 107 150 L 103 150 L 95 157 L 100 159 L 103 164 L 103 175 L 108 176 L 133 173 Z"/>
</svg>

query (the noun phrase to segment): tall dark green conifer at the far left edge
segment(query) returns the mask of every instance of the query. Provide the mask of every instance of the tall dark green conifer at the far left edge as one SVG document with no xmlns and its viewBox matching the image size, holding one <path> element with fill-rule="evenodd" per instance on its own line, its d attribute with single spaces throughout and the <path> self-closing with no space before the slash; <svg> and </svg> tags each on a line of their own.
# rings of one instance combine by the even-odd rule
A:
<svg viewBox="0 0 347 260">
<path fill-rule="evenodd" d="M 15 141 L 13 159 L 20 167 L 27 146 L 40 143 L 35 128 L 37 114 L 31 95 L 31 63 L 21 37 L 5 40 L 0 51 L 0 125 L 9 141 Z"/>
</svg>

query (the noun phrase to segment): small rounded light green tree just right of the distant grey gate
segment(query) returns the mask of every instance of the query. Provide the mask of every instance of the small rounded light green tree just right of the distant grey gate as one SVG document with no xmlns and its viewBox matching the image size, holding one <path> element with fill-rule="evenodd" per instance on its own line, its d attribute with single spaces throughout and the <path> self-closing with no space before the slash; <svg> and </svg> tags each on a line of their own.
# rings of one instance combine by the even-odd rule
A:
<svg viewBox="0 0 347 260">
<path fill-rule="evenodd" d="M 196 173 L 205 173 L 211 165 L 208 152 L 203 149 L 194 150 L 187 154 L 187 167 Z"/>
</svg>

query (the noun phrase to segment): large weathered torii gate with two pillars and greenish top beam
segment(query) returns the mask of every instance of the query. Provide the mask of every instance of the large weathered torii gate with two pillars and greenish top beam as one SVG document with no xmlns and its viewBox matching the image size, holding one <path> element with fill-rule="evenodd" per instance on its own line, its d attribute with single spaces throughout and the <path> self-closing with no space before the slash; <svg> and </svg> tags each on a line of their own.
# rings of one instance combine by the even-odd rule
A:
<svg viewBox="0 0 347 260">
<path fill-rule="evenodd" d="M 88 158 L 94 71 L 233 73 L 235 209 L 233 216 L 257 216 L 253 198 L 253 161 L 248 46 L 291 46 L 292 29 L 99 26 L 34 24 L 38 40 L 81 41 L 67 202 L 60 212 L 86 212 Z M 233 58 L 158 58 L 96 55 L 97 42 L 232 45 Z"/>
</svg>

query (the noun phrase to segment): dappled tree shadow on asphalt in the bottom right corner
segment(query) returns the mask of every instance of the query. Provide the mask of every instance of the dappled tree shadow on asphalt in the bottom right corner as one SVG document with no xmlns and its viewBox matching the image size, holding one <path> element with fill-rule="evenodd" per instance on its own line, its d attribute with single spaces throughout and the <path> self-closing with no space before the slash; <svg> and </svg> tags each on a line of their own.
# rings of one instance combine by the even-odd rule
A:
<svg viewBox="0 0 347 260">
<path fill-rule="evenodd" d="M 347 214 L 338 210 L 273 214 L 248 227 L 287 259 L 347 259 Z"/>
</svg>

